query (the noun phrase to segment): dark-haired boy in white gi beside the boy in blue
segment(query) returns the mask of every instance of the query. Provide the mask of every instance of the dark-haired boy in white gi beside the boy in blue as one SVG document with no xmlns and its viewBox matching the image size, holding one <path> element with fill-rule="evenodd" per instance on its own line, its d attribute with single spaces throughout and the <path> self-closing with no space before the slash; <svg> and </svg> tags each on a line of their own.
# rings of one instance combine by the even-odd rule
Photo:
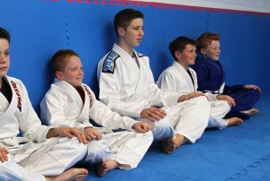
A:
<svg viewBox="0 0 270 181">
<path fill-rule="evenodd" d="M 184 100 L 207 96 L 211 103 L 211 113 L 207 127 L 222 129 L 229 125 L 240 125 L 243 120 L 238 117 L 223 119 L 229 112 L 229 104 L 220 95 L 197 91 L 197 75 L 189 65 L 193 65 L 196 57 L 196 42 L 186 37 L 178 37 L 169 44 L 169 50 L 175 58 L 172 66 L 160 74 L 157 85 L 162 90 L 173 90 L 181 93 Z"/>
</svg>

